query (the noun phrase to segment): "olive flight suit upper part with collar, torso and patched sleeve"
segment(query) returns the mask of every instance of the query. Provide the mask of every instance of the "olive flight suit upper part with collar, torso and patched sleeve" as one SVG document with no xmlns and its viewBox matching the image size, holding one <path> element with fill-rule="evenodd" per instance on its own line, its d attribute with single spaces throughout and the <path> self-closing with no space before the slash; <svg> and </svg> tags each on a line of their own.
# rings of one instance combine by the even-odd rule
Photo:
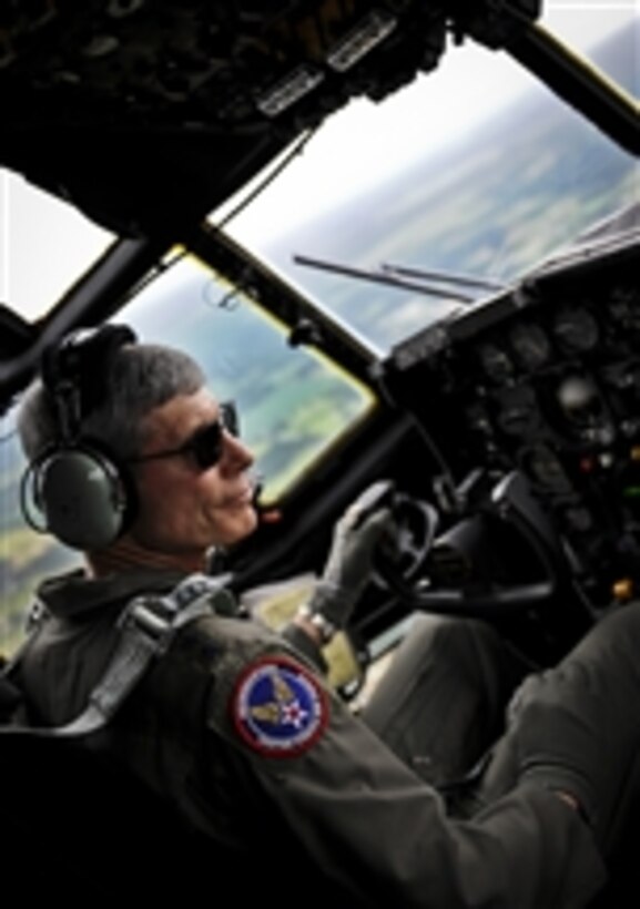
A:
<svg viewBox="0 0 640 909">
<path fill-rule="evenodd" d="M 18 673 L 32 721 L 73 718 L 115 646 L 125 602 L 175 580 L 45 583 L 51 617 Z M 505 787 L 473 818 L 447 816 L 440 794 L 294 646 L 234 615 L 186 625 L 101 747 L 177 806 L 212 852 L 222 849 L 235 892 L 260 879 L 281 906 L 309 895 L 318 905 L 322 893 L 341 907 L 550 909 L 586 905 L 605 879 L 589 826 L 548 777 Z"/>
</svg>

